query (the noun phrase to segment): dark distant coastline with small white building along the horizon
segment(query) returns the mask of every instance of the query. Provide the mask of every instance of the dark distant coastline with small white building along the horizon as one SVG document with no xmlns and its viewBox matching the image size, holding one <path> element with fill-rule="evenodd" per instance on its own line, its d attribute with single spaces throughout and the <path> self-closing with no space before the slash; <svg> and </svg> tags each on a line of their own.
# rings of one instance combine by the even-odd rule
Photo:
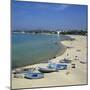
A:
<svg viewBox="0 0 90 90">
<path fill-rule="evenodd" d="M 86 30 L 69 30 L 69 31 L 50 31 L 50 30 L 14 30 L 12 33 L 21 34 L 62 34 L 62 35 L 87 35 Z"/>
</svg>

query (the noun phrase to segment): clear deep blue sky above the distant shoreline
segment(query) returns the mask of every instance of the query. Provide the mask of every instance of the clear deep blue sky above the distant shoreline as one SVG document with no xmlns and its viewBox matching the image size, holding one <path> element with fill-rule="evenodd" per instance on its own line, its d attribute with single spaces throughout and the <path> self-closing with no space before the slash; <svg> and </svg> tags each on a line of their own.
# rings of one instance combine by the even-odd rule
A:
<svg viewBox="0 0 90 90">
<path fill-rule="evenodd" d="M 12 30 L 87 28 L 87 5 L 12 1 Z"/>
</svg>

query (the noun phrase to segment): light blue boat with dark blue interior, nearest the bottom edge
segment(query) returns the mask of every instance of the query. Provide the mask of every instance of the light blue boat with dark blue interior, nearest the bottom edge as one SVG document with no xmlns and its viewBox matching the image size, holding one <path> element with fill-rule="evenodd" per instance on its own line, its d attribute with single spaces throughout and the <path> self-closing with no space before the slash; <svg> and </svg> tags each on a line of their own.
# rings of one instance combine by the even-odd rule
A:
<svg viewBox="0 0 90 90">
<path fill-rule="evenodd" d="M 25 74 L 25 78 L 27 78 L 27 79 L 41 79 L 41 78 L 44 78 L 44 74 L 39 72 L 39 71 L 33 71 L 33 72 L 28 71 Z"/>
</svg>

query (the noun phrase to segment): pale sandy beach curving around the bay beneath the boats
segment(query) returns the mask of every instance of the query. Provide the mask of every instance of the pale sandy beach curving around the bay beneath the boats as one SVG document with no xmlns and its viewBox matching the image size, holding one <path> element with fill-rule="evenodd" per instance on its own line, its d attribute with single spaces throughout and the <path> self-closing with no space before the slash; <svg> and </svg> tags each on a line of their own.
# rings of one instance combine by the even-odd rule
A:
<svg viewBox="0 0 90 90">
<path fill-rule="evenodd" d="M 72 60 L 72 62 L 68 64 L 68 68 L 66 70 L 45 73 L 44 78 L 42 79 L 25 79 L 12 77 L 12 89 L 87 84 L 87 36 L 68 36 L 75 38 L 75 40 L 62 41 L 61 43 L 69 48 L 67 48 L 62 55 L 57 55 L 56 58 L 51 59 L 51 61 L 55 63 L 58 63 L 64 58 Z M 75 56 L 77 56 L 78 59 L 75 59 Z M 47 66 L 47 64 L 48 63 L 39 63 L 25 66 L 24 68 L 38 68 Z M 72 68 L 72 64 L 75 64 L 76 68 Z"/>
</svg>

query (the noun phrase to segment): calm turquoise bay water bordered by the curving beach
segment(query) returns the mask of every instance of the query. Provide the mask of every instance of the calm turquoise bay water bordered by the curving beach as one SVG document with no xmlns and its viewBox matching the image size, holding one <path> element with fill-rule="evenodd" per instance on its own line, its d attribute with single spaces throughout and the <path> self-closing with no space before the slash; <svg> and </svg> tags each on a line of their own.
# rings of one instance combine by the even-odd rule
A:
<svg viewBox="0 0 90 90">
<path fill-rule="evenodd" d="M 12 34 L 12 68 L 52 58 L 62 48 L 57 44 L 63 36 Z"/>
</svg>

